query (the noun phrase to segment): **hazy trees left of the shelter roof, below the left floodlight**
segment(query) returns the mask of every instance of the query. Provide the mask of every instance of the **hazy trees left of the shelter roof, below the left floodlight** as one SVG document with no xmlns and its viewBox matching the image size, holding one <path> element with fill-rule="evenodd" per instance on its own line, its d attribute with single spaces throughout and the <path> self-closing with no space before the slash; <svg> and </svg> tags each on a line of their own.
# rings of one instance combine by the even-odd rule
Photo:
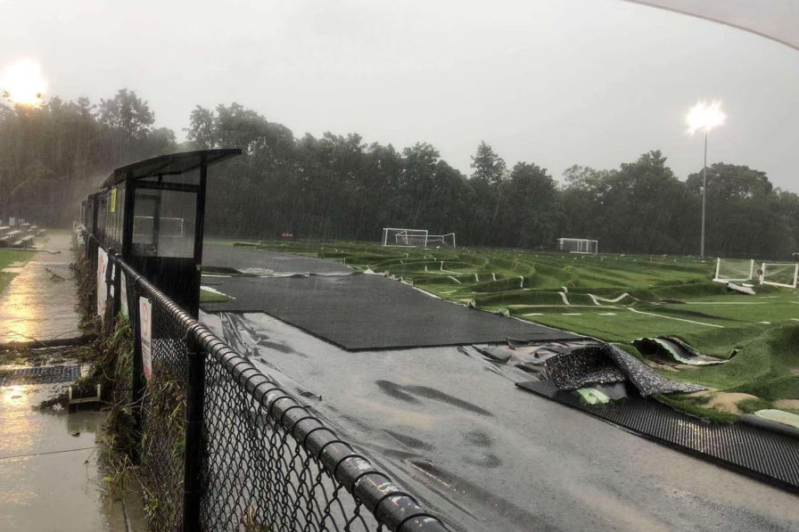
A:
<svg viewBox="0 0 799 532">
<path fill-rule="evenodd" d="M 99 106 L 58 97 L 38 106 L 0 103 L 0 219 L 69 224 L 78 201 L 112 168 L 176 148 L 174 133 L 152 130 L 153 121 L 128 90 Z"/>
</svg>

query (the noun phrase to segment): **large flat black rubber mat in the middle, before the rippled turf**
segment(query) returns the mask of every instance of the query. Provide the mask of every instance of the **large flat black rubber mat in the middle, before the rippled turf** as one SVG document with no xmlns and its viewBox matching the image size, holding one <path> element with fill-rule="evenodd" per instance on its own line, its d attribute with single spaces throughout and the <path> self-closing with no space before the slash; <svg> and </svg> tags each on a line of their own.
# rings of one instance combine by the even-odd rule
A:
<svg viewBox="0 0 799 532">
<path fill-rule="evenodd" d="M 433 298 L 382 275 L 229 277 L 214 288 L 235 298 L 205 312 L 265 312 L 350 350 L 581 338 Z"/>
</svg>

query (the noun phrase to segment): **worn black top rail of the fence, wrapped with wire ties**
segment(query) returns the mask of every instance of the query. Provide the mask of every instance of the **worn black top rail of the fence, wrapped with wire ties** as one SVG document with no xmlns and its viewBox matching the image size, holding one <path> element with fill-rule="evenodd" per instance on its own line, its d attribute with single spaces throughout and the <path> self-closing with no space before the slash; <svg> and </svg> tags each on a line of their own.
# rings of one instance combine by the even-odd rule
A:
<svg viewBox="0 0 799 532">
<path fill-rule="evenodd" d="M 103 247 L 94 234 L 83 231 L 86 242 Z M 109 263 L 130 276 L 136 293 L 165 308 L 194 344 L 224 368 L 233 380 L 258 402 L 268 416 L 283 426 L 337 482 L 341 483 L 375 516 L 375 520 L 394 532 L 447 532 L 439 518 L 426 512 L 416 499 L 395 486 L 366 457 L 339 438 L 325 423 L 279 388 L 248 358 L 241 356 L 203 323 L 195 320 L 172 299 L 129 266 L 118 253 L 109 254 Z"/>
</svg>

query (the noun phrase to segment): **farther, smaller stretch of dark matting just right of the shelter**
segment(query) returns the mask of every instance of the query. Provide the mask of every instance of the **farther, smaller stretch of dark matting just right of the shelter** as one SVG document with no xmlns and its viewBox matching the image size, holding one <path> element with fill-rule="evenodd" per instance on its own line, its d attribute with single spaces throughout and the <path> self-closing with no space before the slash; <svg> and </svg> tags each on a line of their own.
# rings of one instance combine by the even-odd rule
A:
<svg viewBox="0 0 799 532">
<path fill-rule="evenodd" d="M 202 246 L 202 266 L 228 267 L 241 272 L 253 268 L 272 270 L 276 273 L 350 274 L 352 272 L 349 266 L 332 260 L 220 244 Z"/>
</svg>

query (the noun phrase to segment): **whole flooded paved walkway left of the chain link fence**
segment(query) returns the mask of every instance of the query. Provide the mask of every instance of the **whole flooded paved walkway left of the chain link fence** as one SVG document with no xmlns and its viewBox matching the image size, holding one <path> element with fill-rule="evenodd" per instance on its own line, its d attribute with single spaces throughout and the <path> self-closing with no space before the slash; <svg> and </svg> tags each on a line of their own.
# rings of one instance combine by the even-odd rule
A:
<svg viewBox="0 0 799 532">
<path fill-rule="evenodd" d="M 24 266 L 16 266 L 18 275 L 0 294 L 0 343 L 80 335 L 69 269 L 70 234 L 55 233 L 37 244 L 61 252 L 36 253 Z M 53 281 L 45 268 L 64 280 Z M 0 530 L 143 530 L 136 495 L 128 496 L 127 503 L 104 495 L 96 446 L 105 413 L 39 410 L 37 405 L 57 396 L 67 382 L 30 384 L 17 372 L 31 367 L 29 359 L 14 359 L 6 352 L 4 361 L 0 365 Z"/>
</svg>

